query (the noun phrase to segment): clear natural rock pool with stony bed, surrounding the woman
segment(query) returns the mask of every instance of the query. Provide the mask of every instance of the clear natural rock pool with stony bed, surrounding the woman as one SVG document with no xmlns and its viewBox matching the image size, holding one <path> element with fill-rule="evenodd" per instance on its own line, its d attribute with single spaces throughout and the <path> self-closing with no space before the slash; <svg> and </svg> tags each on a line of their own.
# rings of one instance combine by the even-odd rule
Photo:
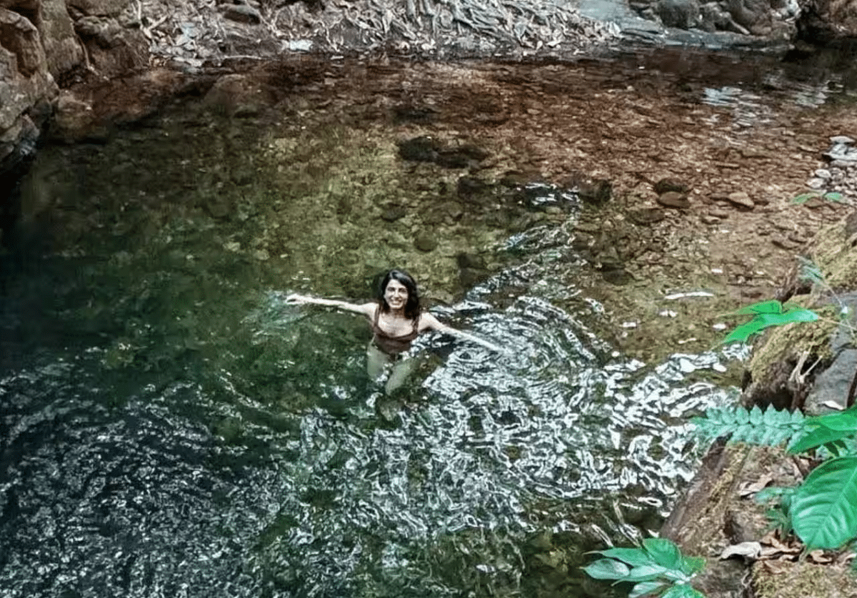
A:
<svg viewBox="0 0 857 598">
<path fill-rule="evenodd" d="M 39 155 L 0 258 L 4 597 L 607 595 L 584 552 L 656 532 L 686 486 L 687 418 L 732 400 L 739 356 L 700 314 L 752 287 L 699 219 L 719 200 L 632 224 L 655 204 L 628 181 L 710 190 L 719 152 L 718 184 L 773 196 L 723 228 L 824 218 L 757 180 L 790 155 L 812 174 L 825 131 L 777 136 L 822 118 L 797 84 L 718 105 L 737 81 L 633 59 L 304 67 Z M 613 203 L 584 204 L 591 178 Z M 510 355 L 423 338 L 386 397 L 365 322 L 285 305 L 369 298 L 391 266 Z"/>
</svg>

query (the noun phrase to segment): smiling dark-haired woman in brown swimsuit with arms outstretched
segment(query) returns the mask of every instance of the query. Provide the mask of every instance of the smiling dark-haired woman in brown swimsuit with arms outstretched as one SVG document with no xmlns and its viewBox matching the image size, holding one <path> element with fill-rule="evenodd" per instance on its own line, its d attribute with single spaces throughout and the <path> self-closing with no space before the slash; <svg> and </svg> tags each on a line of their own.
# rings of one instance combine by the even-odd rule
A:
<svg viewBox="0 0 857 598">
<path fill-rule="evenodd" d="M 423 312 L 420 309 L 417 282 L 402 270 L 387 272 L 381 280 L 377 302 L 358 305 L 297 294 L 286 297 L 286 302 L 315 303 L 365 315 L 373 332 L 372 342 L 366 350 L 366 370 L 369 378 L 378 380 L 387 368 L 392 369 L 385 386 L 388 393 L 402 386 L 416 366 L 416 360 L 412 359 L 407 351 L 411 349 L 411 342 L 422 332 L 445 332 L 481 344 L 490 350 L 500 351 L 494 344 L 441 324 L 434 315 Z"/>
</svg>

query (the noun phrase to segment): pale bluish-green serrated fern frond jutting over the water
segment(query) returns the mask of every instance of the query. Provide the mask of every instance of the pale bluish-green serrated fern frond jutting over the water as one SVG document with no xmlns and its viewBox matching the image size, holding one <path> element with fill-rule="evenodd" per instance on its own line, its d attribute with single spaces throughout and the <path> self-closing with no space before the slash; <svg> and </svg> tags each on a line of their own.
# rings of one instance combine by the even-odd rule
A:
<svg viewBox="0 0 857 598">
<path fill-rule="evenodd" d="M 776 446 L 790 442 L 804 433 L 804 416 L 800 411 L 761 410 L 753 407 L 719 407 L 693 418 L 697 434 L 707 440 L 729 436 L 728 442 Z"/>
</svg>

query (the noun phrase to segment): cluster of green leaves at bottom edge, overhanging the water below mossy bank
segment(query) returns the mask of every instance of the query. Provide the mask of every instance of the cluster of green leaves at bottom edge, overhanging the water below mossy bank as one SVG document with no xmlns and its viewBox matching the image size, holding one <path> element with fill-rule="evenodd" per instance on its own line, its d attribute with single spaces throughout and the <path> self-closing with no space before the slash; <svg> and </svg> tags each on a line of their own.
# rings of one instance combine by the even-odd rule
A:
<svg viewBox="0 0 857 598">
<path fill-rule="evenodd" d="M 683 555 L 666 538 L 647 538 L 639 548 L 608 548 L 596 553 L 606 558 L 585 566 L 584 571 L 596 579 L 633 583 L 629 598 L 704 598 L 690 581 L 705 566 L 705 559 Z"/>
</svg>

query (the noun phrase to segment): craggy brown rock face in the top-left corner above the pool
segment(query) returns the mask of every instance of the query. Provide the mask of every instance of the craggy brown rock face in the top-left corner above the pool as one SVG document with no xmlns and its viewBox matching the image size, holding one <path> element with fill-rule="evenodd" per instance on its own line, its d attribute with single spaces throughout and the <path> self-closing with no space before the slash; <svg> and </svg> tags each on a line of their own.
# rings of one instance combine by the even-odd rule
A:
<svg viewBox="0 0 857 598">
<path fill-rule="evenodd" d="M 0 211 L 57 105 L 57 81 L 87 64 L 113 77 L 148 63 L 147 39 L 125 0 L 0 0 Z M 4 228 L 8 227 L 4 225 Z"/>
</svg>

